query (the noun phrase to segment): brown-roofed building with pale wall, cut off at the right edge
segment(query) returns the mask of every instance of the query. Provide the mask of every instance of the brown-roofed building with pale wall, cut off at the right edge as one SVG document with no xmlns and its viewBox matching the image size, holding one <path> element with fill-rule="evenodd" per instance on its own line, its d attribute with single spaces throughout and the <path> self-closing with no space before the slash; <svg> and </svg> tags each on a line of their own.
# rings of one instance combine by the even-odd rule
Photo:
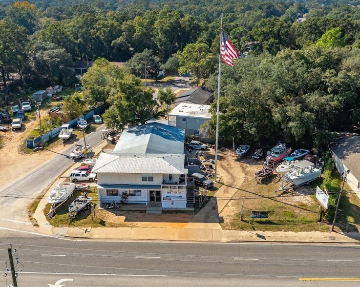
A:
<svg viewBox="0 0 360 287">
<path fill-rule="evenodd" d="M 331 151 L 339 173 L 350 170 L 346 182 L 360 198 L 360 136 L 343 135 L 332 144 Z"/>
</svg>

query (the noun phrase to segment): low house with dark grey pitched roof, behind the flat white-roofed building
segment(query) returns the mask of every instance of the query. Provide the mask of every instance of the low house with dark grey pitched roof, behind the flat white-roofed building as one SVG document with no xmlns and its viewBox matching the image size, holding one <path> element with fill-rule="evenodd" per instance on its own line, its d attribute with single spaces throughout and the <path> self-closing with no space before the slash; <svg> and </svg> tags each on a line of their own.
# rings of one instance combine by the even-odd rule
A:
<svg viewBox="0 0 360 287">
<path fill-rule="evenodd" d="M 204 86 L 187 90 L 176 97 L 174 105 L 180 103 L 211 104 L 214 100 L 213 91 Z"/>
</svg>

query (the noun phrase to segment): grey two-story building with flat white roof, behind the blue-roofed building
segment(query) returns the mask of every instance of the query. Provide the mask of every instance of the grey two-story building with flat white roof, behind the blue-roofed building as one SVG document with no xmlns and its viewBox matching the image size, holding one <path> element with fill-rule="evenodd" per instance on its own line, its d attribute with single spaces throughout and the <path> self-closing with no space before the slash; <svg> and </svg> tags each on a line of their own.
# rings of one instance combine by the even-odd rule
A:
<svg viewBox="0 0 360 287">
<path fill-rule="evenodd" d="M 180 103 L 168 114 L 170 126 L 185 129 L 186 135 L 200 135 L 200 126 L 211 119 L 210 105 Z"/>
</svg>

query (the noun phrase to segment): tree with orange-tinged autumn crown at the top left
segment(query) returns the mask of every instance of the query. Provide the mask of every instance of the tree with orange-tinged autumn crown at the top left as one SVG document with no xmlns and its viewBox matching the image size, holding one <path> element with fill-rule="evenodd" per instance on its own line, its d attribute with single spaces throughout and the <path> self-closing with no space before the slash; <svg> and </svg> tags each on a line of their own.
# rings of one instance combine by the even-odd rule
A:
<svg viewBox="0 0 360 287">
<path fill-rule="evenodd" d="M 15 2 L 6 11 L 6 20 L 25 27 L 29 34 L 33 34 L 39 25 L 39 12 L 34 4 L 28 1 Z"/>
</svg>

